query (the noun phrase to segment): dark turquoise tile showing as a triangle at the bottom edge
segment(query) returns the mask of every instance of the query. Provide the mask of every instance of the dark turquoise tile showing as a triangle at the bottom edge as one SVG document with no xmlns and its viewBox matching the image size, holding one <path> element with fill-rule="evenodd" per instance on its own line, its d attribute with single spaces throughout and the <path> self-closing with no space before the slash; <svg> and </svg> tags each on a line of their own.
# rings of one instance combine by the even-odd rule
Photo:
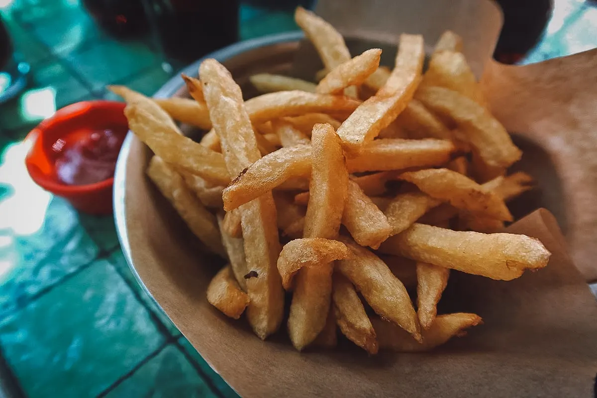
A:
<svg viewBox="0 0 597 398">
<path fill-rule="evenodd" d="M 217 397 L 176 345 L 167 345 L 106 395 L 129 397 Z"/>
</svg>

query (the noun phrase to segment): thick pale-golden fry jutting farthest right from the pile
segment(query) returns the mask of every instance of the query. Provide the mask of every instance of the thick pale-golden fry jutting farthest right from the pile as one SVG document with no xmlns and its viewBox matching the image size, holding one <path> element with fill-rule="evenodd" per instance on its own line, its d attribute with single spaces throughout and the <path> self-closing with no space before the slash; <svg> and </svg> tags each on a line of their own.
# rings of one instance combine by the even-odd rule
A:
<svg viewBox="0 0 597 398">
<path fill-rule="evenodd" d="M 418 223 L 389 237 L 380 251 L 498 280 L 543 268 L 551 255 L 538 239 L 525 235 L 457 232 Z"/>
</svg>

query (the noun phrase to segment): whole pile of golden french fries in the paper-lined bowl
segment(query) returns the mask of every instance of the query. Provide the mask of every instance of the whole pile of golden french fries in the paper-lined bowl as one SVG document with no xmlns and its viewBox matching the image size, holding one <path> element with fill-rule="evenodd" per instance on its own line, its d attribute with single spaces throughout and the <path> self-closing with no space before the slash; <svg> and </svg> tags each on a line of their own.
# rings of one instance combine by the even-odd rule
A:
<svg viewBox="0 0 597 398">
<path fill-rule="evenodd" d="M 296 21 L 318 51 L 319 83 L 256 75 L 244 101 L 213 59 L 190 98 L 155 99 L 111 87 L 131 130 L 155 156 L 147 168 L 190 230 L 228 264 L 207 299 L 242 313 L 262 339 L 288 334 L 298 350 L 333 347 L 337 329 L 368 353 L 427 351 L 478 325 L 437 315 L 450 270 L 498 280 L 546 266 L 537 239 L 496 233 L 505 202 L 532 187 L 506 174 L 521 151 L 487 109 L 445 32 L 423 73 L 423 38 L 402 35 L 392 70 L 381 50 L 351 57 L 310 11 Z M 205 131 L 200 143 L 173 121 Z M 416 291 L 416 306 L 409 295 Z"/>
</svg>

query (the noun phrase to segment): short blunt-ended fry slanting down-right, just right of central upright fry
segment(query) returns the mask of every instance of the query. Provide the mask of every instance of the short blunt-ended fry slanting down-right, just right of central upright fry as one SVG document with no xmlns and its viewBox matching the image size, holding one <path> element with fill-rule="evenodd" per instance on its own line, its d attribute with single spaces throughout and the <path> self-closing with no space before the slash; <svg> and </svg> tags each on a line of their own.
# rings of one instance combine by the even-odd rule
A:
<svg viewBox="0 0 597 398">
<path fill-rule="evenodd" d="M 361 246 L 377 249 L 387 239 L 392 226 L 383 212 L 354 181 L 349 181 L 342 224 Z"/>
</svg>

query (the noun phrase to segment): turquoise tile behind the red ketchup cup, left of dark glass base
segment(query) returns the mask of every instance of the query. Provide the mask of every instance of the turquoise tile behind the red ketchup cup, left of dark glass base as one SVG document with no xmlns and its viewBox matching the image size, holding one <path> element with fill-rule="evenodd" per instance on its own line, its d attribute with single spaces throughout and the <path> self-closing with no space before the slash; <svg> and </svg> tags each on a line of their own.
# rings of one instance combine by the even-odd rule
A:
<svg viewBox="0 0 597 398">
<path fill-rule="evenodd" d="M 69 54 L 66 60 L 93 87 L 93 90 L 103 90 L 107 84 L 133 78 L 150 66 L 161 62 L 144 42 L 112 40 Z"/>
</svg>

